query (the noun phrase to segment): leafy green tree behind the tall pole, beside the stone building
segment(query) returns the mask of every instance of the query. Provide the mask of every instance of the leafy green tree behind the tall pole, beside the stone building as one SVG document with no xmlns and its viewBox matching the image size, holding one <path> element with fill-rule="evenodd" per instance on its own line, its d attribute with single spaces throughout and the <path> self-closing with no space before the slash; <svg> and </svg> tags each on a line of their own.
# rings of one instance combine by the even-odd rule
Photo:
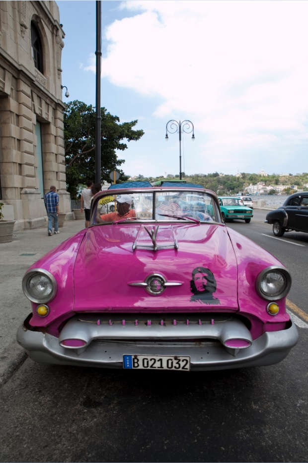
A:
<svg viewBox="0 0 308 463">
<path fill-rule="evenodd" d="M 72 198 L 77 197 L 78 185 L 87 180 L 95 181 L 95 108 L 81 101 L 71 101 L 64 111 L 64 142 L 67 189 Z M 117 116 L 112 116 L 106 108 L 101 108 L 101 180 L 109 182 L 109 173 L 117 170 L 119 181 L 127 176 L 119 169 L 125 160 L 119 159 L 116 150 L 124 151 L 127 144 L 123 140 L 136 141 L 143 130 L 133 130 L 137 120 L 120 124 Z"/>
</svg>

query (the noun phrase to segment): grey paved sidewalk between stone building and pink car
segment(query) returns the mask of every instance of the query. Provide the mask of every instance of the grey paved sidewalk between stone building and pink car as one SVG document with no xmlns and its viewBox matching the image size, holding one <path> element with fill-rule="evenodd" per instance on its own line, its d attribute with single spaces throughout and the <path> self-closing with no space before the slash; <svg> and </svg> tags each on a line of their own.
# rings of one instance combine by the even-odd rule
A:
<svg viewBox="0 0 308 463">
<path fill-rule="evenodd" d="M 16 331 L 31 312 L 30 301 L 21 288 L 25 271 L 83 228 L 84 220 L 70 220 L 59 228 L 59 235 L 48 236 L 46 224 L 44 228 L 17 231 L 13 241 L 0 243 L 0 387 L 26 358 L 16 342 Z"/>
</svg>

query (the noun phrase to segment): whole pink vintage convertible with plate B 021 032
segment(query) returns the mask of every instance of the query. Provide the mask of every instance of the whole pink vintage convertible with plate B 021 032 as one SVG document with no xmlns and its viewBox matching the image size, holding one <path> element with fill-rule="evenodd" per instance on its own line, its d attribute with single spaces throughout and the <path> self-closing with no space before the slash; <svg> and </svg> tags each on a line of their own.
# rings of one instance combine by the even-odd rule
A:
<svg viewBox="0 0 308 463">
<path fill-rule="evenodd" d="M 32 312 L 17 340 L 30 358 L 221 370 L 278 363 L 297 343 L 288 270 L 226 227 L 213 192 L 130 182 L 92 202 L 91 225 L 24 275 Z"/>
</svg>

